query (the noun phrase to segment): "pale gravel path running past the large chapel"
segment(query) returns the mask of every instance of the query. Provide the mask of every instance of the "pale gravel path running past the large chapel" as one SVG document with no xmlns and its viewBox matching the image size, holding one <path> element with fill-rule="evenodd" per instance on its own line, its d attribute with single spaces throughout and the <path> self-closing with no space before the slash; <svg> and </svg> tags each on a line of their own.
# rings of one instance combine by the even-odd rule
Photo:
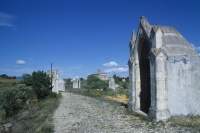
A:
<svg viewBox="0 0 200 133">
<path fill-rule="evenodd" d="M 153 123 L 138 116 L 127 115 L 123 106 L 106 100 L 62 93 L 61 103 L 54 114 L 56 133 L 143 133 L 195 132 L 169 123 Z"/>
</svg>

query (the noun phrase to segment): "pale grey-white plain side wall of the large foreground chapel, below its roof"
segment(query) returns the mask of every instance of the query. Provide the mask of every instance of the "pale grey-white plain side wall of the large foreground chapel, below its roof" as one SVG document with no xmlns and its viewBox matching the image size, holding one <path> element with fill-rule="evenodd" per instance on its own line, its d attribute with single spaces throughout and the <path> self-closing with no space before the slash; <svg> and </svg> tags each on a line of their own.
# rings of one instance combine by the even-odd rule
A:
<svg viewBox="0 0 200 133">
<path fill-rule="evenodd" d="M 171 115 L 200 114 L 200 58 L 169 58 L 168 106 Z"/>
</svg>

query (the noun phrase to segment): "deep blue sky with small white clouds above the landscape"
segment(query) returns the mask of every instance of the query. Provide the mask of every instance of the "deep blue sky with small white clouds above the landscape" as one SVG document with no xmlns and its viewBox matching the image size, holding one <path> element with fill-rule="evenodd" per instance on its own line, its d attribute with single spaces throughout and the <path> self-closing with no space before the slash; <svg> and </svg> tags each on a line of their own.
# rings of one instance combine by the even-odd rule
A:
<svg viewBox="0 0 200 133">
<path fill-rule="evenodd" d="M 131 31 L 140 16 L 175 27 L 200 52 L 199 0 L 0 0 L 0 74 L 97 69 L 128 76 Z"/>
</svg>

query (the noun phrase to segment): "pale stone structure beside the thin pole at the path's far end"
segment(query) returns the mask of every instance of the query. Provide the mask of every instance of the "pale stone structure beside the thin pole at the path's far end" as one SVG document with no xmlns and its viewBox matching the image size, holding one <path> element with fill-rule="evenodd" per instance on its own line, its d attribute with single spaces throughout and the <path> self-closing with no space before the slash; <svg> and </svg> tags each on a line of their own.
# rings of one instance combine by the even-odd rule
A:
<svg viewBox="0 0 200 133">
<path fill-rule="evenodd" d="M 51 71 L 48 71 L 47 74 L 51 78 Z M 65 91 L 65 81 L 59 77 L 58 69 L 52 71 L 52 91 L 58 93 L 59 91 Z"/>
</svg>

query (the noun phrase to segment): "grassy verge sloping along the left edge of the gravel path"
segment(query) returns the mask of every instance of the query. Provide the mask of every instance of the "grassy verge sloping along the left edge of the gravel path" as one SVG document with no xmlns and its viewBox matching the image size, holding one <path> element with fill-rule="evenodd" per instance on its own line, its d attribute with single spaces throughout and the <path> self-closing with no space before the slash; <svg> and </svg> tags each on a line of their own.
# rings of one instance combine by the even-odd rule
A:
<svg viewBox="0 0 200 133">
<path fill-rule="evenodd" d="M 54 132 L 52 125 L 53 113 L 59 106 L 61 95 L 57 98 L 46 98 L 39 102 L 31 103 L 27 109 L 21 110 L 13 117 L 1 122 L 1 125 L 12 123 L 12 132 L 25 133 L 51 133 Z"/>
</svg>

